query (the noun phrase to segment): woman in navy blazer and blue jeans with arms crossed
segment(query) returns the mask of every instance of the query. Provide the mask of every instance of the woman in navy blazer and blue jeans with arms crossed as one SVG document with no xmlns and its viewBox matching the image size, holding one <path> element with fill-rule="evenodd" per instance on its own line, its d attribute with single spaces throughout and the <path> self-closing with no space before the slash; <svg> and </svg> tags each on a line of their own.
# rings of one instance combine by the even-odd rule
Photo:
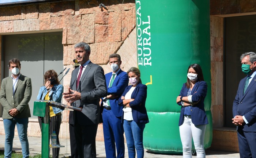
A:
<svg viewBox="0 0 256 158">
<path fill-rule="evenodd" d="M 132 85 L 125 88 L 123 95 L 118 100 L 118 105 L 124 106 L 122 117 L 128 156 L 135 158 L 136 149 L 137 158 L 143 158 L 143 131 L 145 124 L 149 122 L 145 107 L 147 86 L 142 84 L 138 68 L 130 68 L 127 74 Z"/>
</svg>

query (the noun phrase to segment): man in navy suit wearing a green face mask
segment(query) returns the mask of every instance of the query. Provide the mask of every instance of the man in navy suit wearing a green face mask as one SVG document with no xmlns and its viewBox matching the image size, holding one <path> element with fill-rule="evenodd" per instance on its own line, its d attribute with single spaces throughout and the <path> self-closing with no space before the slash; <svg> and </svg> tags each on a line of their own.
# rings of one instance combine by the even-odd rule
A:
<svg viewBox="0 0 256 158">
<path fill-rule="evenodd" d="M 240 60 L 247 76 L 238 86 L 232 123 L 237 126 L 240 158 L 256 158 L 256 53 L 244 53 Z"/>
</svg>

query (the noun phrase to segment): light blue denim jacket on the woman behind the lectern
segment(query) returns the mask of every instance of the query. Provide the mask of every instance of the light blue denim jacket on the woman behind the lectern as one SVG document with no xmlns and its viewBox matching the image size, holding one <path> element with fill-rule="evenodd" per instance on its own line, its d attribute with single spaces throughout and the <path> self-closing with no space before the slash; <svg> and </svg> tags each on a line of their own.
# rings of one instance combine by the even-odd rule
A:
<svg viewBox="0 0 256 158">
<path fill-rule="evenodd" d="M 44 92 L 43 95 L 42 95 L 42 92 Z M 45 89 L 45 86 L 41 86 L 37 95 L 37 99 L 40 99 L 41 95 L 42 95 L 41 99 L 44 99 L 47 93 L 48 91 Z M 52 96 L 52 101 L 61 103 L 62 93 L 63 93 L 63 85 L 55 84 L 52 90 L 49 92 L 49 97 Z M 52 109 L 53 109 L 53 113 L 55 114 L 63 111 L 63 109 L 56 108 L 56 107 L 52 107 Z"/>
</svg>

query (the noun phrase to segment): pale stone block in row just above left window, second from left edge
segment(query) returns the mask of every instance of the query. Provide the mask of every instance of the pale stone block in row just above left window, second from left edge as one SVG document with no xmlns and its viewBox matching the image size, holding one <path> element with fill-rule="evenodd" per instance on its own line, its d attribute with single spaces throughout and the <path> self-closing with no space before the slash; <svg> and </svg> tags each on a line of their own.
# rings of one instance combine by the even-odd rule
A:
<svg viewBox="0 0 256 158">
<path fill-rule="evenodd" d="M 14 32 L 39 30 L 38 19 L 14 20 Z"/>
</svg>

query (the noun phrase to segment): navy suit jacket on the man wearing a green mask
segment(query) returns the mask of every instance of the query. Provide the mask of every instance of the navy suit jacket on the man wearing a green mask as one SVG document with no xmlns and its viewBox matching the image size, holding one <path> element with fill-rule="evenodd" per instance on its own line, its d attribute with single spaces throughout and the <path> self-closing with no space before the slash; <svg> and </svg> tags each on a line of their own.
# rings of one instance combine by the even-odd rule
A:
<svg viewBox="0 0 256 158">
<path fill-rule="evenodd" d="M 246 76 L 247 77 L 247 76 Z M 237 126 L 246 132 L 256 131 L 256 75 L 248 85 L 244 93 L 246 77 L 243 78 L 238 86 L 237 95 L 233 102 L 233 117 L 236 115 L 244 116 L 248 124 Z M 244 94 L 243 94 L 244 93 Z"/>
</svg>

